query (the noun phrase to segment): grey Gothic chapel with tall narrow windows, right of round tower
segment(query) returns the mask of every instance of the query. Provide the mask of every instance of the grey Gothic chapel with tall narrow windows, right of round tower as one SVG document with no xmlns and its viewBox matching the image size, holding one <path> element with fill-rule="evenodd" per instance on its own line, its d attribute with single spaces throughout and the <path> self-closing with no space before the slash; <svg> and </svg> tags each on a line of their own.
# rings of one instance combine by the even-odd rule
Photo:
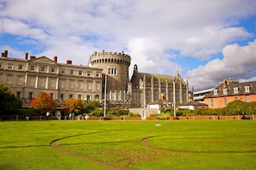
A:
<svg viewBox="0 0 256 170">
<path fill-rule="evenodd" d="M 132 107 L 147 108 L 147 104 L 155 100 L 172 101 L 181 104 L 188 100 L 188 82 L 181 76 L 166 76 L 150 73 L 140 73 L 134 65 L 134 73 L 128 84 L 132 97 Z"/>
</svg>

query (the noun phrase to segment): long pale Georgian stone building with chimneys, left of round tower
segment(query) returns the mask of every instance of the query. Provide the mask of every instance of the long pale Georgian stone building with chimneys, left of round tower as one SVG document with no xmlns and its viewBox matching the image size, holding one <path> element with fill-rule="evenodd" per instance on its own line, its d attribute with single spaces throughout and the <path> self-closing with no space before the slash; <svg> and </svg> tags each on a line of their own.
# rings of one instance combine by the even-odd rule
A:
<svg viewBox="0 0 256 170">
<path fill-rule="evenodd" d="M 6 50 L 0 58 L 0 82 L 22 100 L 24 107 L 41 92 L 51 94 L 59 106 L 70 98 L 102 99 L 102 69 L 73 65 L 72 60 L 58 64 L 57 59 L 28 58 L 28 52 L 24 59 L 9 58 Z"/>
</svg>

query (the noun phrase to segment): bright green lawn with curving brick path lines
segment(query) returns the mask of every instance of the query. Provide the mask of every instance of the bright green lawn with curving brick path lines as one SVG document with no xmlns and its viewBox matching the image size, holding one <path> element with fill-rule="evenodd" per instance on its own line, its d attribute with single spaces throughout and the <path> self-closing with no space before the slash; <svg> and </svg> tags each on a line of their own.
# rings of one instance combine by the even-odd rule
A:
<svg viewBox="0 0 256 170">
<path fill-rule="evenodd" d="M 256 121 L 3 121 L 0 169 L 255 169 Z M 142 140 L 147 146 L 142 144 Z M 144 143 L 144 144 L 145 144 Z"/>
</svg>

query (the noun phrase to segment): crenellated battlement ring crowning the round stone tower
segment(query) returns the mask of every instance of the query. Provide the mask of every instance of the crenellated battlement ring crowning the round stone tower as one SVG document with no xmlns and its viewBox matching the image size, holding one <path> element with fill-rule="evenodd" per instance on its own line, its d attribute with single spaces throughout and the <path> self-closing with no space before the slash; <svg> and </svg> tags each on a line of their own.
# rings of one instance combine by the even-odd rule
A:
<svg viewBox="0 0 256 170">
<path fill-rule="evenodd" d="M 90 56 L 91 64 L 124 64 L 129 66 L 131 57 L 124 52 L 94 52 Z"/>
</svg>

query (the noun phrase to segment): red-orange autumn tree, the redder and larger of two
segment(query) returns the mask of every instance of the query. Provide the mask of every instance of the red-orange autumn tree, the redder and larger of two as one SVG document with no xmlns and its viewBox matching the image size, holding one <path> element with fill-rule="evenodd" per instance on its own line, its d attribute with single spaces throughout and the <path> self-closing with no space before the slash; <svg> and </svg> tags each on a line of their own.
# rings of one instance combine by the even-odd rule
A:
<svg viewBox="0 0 256 170">
<path fill-rule="evenodd" d="M 30 105 L 41 113 L 53 112 L 56 110 L 56 102 L 53 100 L 51 94 L 41 92 L 34 100 L 31 100 Z"/>
</svg>

